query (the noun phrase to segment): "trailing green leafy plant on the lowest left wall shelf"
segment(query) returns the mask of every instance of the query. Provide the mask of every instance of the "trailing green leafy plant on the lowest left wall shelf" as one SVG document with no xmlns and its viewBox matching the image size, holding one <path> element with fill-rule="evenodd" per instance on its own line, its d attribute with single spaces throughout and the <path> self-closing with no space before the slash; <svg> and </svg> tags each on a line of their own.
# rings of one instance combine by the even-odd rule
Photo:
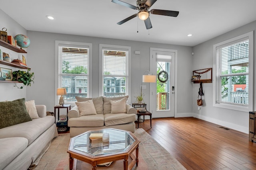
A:
<svg viewBox="0 0 256 170">
<path fill-rule="evenodd" d="M 34 72 L 30 72 L 30 69 L 28 68 L 27 71 L 24 70 L 17 70 L 12 72 L 12 76 L 13 76 L 13 81 L 18 81 L 18 82 L 22 82 L 24 85 L 23 86 L 31 86 L 31 82 L 34 83 Z M 18 87 L 15 83 L 15 86 Z M 23 88 L 23 86 L 21 86 L 20 88 Z M 19 87 L 18 87 L 19 88 Z"/>
</svg>

